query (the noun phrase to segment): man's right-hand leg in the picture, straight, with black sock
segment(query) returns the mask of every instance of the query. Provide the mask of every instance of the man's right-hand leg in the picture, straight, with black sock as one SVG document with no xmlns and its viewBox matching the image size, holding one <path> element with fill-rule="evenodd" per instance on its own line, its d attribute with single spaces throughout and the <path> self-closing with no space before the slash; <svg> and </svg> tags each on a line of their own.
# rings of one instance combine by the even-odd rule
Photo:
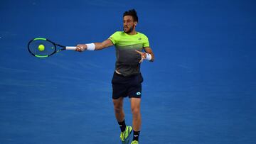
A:
<svg viewBox="0 0 256 144">
<path fill-rule="evenodd" d="M 134 130 L 133 140 L 139 141 L 139 132 L 142 125 L 142 116 L 140 113 L 140 98 L 131 98 L 131 109 L 132 109 L 132 127 Z"/>
</svg>

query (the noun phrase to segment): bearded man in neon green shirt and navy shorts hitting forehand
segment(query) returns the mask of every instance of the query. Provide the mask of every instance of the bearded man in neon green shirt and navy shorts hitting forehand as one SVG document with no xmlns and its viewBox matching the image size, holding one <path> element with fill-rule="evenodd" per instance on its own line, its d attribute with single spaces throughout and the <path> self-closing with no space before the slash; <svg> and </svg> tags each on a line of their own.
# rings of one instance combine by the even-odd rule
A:
<svg viewBox="0 0 256 144">
<path fill-rule="evenodd" d="M 132 144 L 139 143 L 141 130 L 140 103 L 142 96 L 142 74 L 140 64 L 143 60 L 154 61 L 154 54 L 149 47 L 146 35 L 135 31 L 138 23 L 137 12 L 132 9 L 123 14 L 124 31 L 117 31 L 102 43 L 77 45 L 76 51 L 102 50 L 115 46 L 117 61 L 112 78 L 112 101 L 114 113 L 121 129 L 120 138 L 129 139 L 133 129 Z M 145 52 L 142 52 L 144 50 Z M 132 126 L 126 126 L 124 121 L 123 100 L 129 96 L 132 109 Z"/>
</svg>

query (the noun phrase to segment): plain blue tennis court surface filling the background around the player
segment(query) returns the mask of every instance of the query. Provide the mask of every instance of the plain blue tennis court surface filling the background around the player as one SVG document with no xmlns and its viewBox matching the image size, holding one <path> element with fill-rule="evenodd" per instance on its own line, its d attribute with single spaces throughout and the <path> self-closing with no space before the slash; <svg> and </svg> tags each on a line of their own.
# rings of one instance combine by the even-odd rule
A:
<svg viewBox="0 0 256 144">
<path fill-rule="evenodd" d="M 114 47 L 33 57 L 32 38 L 102 42 L 136 9 L 155 61 L 142 63 L 141 144 L 256 143 L 256 2 L 0 1 L 0 143 L 120 143 Z M 132 125 L 129 99 L 124 111 Z"/>
</svg>

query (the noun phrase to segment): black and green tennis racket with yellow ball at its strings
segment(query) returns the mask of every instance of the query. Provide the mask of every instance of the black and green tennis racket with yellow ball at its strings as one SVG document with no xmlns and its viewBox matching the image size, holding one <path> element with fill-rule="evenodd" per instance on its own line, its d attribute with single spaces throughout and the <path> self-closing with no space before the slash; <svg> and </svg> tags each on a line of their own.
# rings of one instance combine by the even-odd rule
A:
<svg viewBox="0 0 256 144">
<path fill-rule="evenodd" d="M 60 47 L 57 49 L 57 47 Z M 73 46 L 63 46 L 56 43 L 53 43 L 52 41 L 46 39 L 46 38 L 34 38 L 33 40 L 30 40 L 28 43 L 28 52 L 31 53 L 31 55 L 35 57 L 50 57 L 50 55 L 53 55 L 57 52 L 63 51 L 63 50 L 75 50 L 76 47 Z"/>
</svg>

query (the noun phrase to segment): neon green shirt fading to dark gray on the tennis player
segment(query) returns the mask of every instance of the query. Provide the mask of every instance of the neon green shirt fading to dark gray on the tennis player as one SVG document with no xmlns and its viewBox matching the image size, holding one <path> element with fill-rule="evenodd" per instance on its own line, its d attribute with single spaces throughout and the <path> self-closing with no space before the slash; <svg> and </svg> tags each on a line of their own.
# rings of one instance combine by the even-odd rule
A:
<svg viewBox="0 0 256 144">
<path fill-rule="evenodd" d="M 143 48 L 149 47 L 146 35 L 138 32 L 136 35 L 128 35 L 123 31 L 117 31 L 109 39 L 116 48 L 115 69 L 124 76 L 139 74 L 141 55 L 135 50 L 142 51 Z"/>
</svg>

